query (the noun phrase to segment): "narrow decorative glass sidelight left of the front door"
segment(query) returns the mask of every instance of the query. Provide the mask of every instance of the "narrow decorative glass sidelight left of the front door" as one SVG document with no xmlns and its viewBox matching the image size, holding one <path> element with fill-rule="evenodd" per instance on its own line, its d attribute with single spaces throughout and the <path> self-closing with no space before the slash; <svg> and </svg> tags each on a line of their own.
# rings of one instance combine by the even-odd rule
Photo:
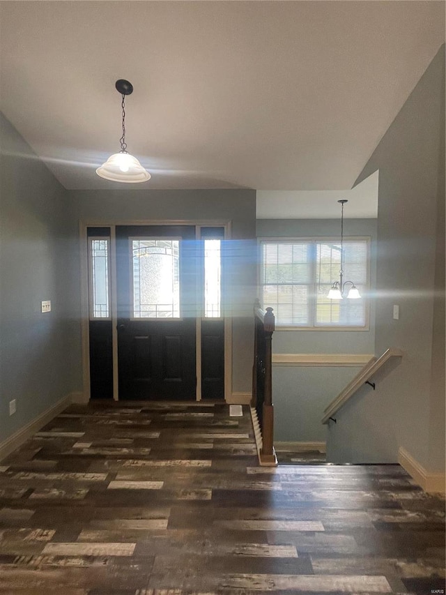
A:
<svg viewBox="0 0 446 595">
<path fill-rule="evenodd" d="M 109 318 L 109 239 L 91 239 L 91 318 Z"/>
</svg>

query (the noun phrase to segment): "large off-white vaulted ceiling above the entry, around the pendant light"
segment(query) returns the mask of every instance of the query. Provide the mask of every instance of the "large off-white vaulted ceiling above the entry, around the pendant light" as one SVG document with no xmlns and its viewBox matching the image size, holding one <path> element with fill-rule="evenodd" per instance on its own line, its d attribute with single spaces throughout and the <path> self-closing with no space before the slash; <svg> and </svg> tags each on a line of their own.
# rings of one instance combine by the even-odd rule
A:
<svg viewBox="0 0 446 595">
<path fill-rule="evenodd" d="M 1 110 L 66 188 L 351 188 L 445 39 L 443 1 L 1 1 Z"/>
</svg>

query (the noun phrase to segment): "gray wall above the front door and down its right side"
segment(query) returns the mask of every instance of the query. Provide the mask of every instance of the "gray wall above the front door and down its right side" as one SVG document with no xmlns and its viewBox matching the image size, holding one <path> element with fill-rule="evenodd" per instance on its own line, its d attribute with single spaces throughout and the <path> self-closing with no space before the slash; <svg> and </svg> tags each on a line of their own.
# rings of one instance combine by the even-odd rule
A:
<svg viewBox="0 0 446 595">
<path fill-rule="evenodd" d="M 251 391 L 256 296 L 255 190 L 72 190 L 75 218 L 84 223 L 206 220 L 231 221 L 226 246 L 228 305 L 233 315 L 235 392 Z"/>
</svg>

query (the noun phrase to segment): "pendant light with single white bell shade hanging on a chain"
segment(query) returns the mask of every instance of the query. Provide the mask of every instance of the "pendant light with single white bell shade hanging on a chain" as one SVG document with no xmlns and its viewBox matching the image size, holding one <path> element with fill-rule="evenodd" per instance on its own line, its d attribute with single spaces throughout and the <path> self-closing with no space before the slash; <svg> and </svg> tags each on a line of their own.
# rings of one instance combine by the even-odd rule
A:
<svg viewBox="0 0 446 595">
<path fill-rule="evenodd" d="M 123 135 L 119 140 L 121 151 L 109 156 L 107 161 L 98 167 L 96 173 L 101 178 L 112 180 L 114 182 L 145 182 L 151 179 L 151 174 L 144 170 L 144 167 L 142 167 L 136 157 L 130 155 L 127 151 L 127 143 L 125 142 L 125 96 L 130 95 L 130 93 L 133 92 L 133 85 L 124 79 L 119 79 L 116 81 L 115 86 L 116 91 L 121 93 L 122 96 Z"/>
</svg>

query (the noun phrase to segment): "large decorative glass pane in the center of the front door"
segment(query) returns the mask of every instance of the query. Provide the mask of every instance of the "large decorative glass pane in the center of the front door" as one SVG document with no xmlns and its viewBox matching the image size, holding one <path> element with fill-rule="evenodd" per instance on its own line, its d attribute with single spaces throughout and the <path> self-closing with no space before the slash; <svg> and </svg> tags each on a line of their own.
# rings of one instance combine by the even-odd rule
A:
<svg viewBox="0 0 446 595">
<path fill-rule="evenodd" d="M 180 241 L 132 240 L 133 317 L 180 317 Z"/>
</svg>

